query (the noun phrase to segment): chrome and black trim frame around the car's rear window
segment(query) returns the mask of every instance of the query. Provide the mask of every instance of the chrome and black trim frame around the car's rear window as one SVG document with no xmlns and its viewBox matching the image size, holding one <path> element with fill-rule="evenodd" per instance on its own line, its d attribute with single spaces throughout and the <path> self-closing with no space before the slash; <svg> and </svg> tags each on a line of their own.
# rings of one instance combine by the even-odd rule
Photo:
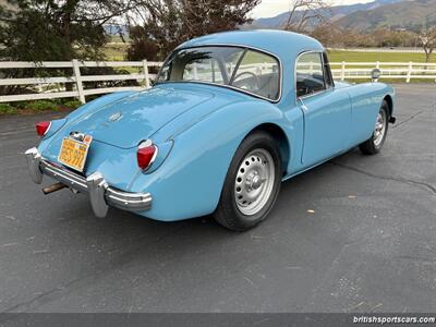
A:
<svg viewBox="0 0 436 327">
<path fill-rule="evenodd" d="M 230 88 L 230 89 L 233 89 L 233 90 L 238 90 L 238 92 L 241 92 L 241 93 L 243 93 L 243 94 L 247 94 L 247 95 L 254 96 L 254 97 L 256 97 L 256 98 L 267 100 L 267 101 L 272 102 L 272 104 L 278 104 L 278 102 L 280 102 L 281 96 L 282 96 L 282 88 L 283 88 L 283 87 L 282 87 L 282 84 L 283 84 L 283 64 L 282 64 L 280 58 L 279 58 L 276 53 L 269 52 L 268 50 L 264 50 L 264 49 L 261 49 L 261 48 L 252 47 L 252 46 L 249 46 L 249 45 L 239 45 L 239 44 L 207 44 L 207 45 L 198 45 L 198 46 L 192 46 L 192 47 L 178 47 L 178 48 L 175 48 L 175 49 L 167 57 L 167 59 L 164 61 L 164 64 L 160 66 L 160 70 L 159 70 L 159 72 L 157 73 L 156 81 L 159 80 L 159 76 L 160 76 L 160 73 L 161 73 L 164 66 L 166 65 L 166 63 L 168 62 L 168 60 L 171 58 L 172 53 L 174 53 L 174 51 L 180 51 L 180 50 L 185 50 L 185 49 L 194 49 L 194 48 L 204 48 L 204 47 L 232 47 L 232 48 L 242 48 L 242 49 L 250 49 L 250 50 L 263 52 L 263 53 L 266 53 L 266 55 L 269 55 L 269 56 L 274 57 L 274 58 L 278 61 L 279 66 L 280 66 L 280 68 L 279 68 L 279 96 L 278 96 L 278 98 L 277 98 L 277 99 L 269 99 L 269 98 L 267 98 L 267 97 L 263 97 L 263 96 L 257 95 L 257 94 L 254 94 L 254 93 L 252 93 L 252 92 L 250 92 L 250 90 L 246 90 L 246 89 L 243 89 L 243 88 L 239 88 L 239 87 L 235 87 L 235 86 L 232 86 L 232 85 L 216 84 L 216 83 L 207 83 L 207 82 L 199 82 L 199 81 L 179 81 L 179 82 L 177 82 L 177 81 L 168 81 L 168 82 L 160 82 L 160 83 L 158 82 L 158 83 L 156 83 L 156 85 L 158 85 L 158 84 L 166 84 L 166 83 L 196 83 L 196 84 L 206 84 L 206 85 L 220 86 L 220 87 L 225 87 L 225 88 Z"/>
</svg>

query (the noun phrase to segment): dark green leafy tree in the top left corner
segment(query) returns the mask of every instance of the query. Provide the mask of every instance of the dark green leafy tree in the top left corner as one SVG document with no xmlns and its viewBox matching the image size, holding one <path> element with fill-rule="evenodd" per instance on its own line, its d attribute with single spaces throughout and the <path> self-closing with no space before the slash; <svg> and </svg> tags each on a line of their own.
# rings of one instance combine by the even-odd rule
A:
<svg viewBox="0 0 436 327">
<path fill-rule="evenodd" d="M 99 59 L 104 25 L 131 10 L 133 0 L 5 0 L 0 10 L 0 59 Z"/>
</svg>

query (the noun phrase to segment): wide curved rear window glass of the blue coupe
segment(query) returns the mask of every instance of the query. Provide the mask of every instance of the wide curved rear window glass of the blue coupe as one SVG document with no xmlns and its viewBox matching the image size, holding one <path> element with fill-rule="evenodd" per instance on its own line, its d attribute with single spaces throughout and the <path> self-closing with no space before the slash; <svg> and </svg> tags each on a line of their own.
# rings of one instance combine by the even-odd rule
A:
<svg viewBox="0 0 436 327">
<path fill-rule="evenodd" d="M 217 84 L 277 100 L 280 69 L 278 60 L 265 52 L 241 47 L 196 47 L 174 51 L 157 82 Z"/>
</svg>

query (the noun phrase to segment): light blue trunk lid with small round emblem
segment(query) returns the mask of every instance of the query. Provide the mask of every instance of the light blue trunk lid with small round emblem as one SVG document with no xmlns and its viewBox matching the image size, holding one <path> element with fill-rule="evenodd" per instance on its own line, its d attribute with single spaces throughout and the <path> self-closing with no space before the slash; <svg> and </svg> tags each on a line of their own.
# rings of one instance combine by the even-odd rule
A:
<svg viewBox="0 0 436 327">
<path fill-rule="evenodd" d="M 171 87 L 154 87 L 84 114 L 65 126 L 121 148 L 137 146 L 183 112 L 213 98 L 214 94 Z"/>
</svg>

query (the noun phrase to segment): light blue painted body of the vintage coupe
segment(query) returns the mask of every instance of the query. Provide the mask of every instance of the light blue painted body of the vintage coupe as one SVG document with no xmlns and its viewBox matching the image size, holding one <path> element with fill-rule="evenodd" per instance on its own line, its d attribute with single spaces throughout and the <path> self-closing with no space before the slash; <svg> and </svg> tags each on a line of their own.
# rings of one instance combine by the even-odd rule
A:
<svg viewBox="0 0 436 327">
<path fill-rule="evenodd" d="M 149 192 L 153 206 L 141 215 L 180 220 L 215 210 L 233 155 L 254 129 L 269 124 L 286 135 L 280 144 L 284 180 L 370 138 L 383 99 L 393 100 L 393 89 L 385 84 L 340 82 L 296 100 L 296 57 L 303 51 L 323 51 L 318 41 L 306 36 L 267 31 L 220 33 L 180 47 L 223 44 L 263 49 L 280 59 L 282 96 L 278 102 L 187 82 L 116 93 L 53 121 L 39 145 L 43 157 L 58 162 L 63 137 L 72 131 L 90 134 L 94 141 L 84 175 L 99 171 L 114 187 Z M 146 138 L 153 140 L 159 153 L 144 173 L 136 164 L 136 147 Z"/>
</svg>

